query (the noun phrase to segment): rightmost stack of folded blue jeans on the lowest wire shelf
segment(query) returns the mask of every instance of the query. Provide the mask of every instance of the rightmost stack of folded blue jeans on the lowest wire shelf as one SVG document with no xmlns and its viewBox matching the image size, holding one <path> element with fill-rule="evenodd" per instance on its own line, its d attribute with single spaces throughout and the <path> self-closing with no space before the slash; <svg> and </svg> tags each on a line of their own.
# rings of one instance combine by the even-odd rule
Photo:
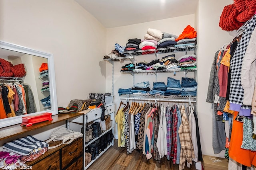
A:
<svg viewBox="0 0 256 170">
<path fill-rule="evenodd" d="M 194 78 L 181 78 L 181 96 L 196 96 L 197 82 Z"/>
</svg>

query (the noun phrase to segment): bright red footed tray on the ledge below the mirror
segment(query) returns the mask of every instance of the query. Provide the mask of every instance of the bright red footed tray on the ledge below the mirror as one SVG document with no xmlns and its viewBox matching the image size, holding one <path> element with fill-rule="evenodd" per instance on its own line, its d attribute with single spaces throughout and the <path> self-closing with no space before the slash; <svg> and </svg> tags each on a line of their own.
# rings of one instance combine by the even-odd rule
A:
<svg viewBox="0 0 256 170">
<path fill-rule="evenodd" d="M 33 115 L 33 116 L 25 116 L 22 117 L 22 123 L 21 126 L 32 126 L 34 123 L 39 123 L 42 121 L 52 121 L 52 113 L 42 113 L 39 115 Z"/>
</svg>

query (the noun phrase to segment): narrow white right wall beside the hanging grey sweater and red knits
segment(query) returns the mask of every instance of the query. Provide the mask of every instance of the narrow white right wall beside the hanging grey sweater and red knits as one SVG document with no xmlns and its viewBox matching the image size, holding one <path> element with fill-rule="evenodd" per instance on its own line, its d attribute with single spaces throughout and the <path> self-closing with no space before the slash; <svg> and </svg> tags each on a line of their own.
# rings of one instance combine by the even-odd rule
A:
<svg viewBox="0 0 256 170">
<path fill-rule="evenodd" d="M 224 6 L 232 4 L 232 0 L 199 0 L 196 25 L 198 31 L 198 121 L 202 153 L 214 155 L 212 149 L 212 108 L 206 102 L 210 69 L 216 51 L 224 43 L 232 41 L 227 31 L 223 31 L 218 25 Z M 224 152 L 215 156 L 224 157 Z"/>
</svg>

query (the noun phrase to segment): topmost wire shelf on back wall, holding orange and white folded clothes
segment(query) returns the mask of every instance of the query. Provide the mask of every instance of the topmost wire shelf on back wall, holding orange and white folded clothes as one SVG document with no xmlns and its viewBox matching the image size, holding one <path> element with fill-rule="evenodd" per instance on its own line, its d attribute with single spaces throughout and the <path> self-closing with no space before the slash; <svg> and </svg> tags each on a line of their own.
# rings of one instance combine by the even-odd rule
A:
<svg viewBox="0 0 256 170">
<path fill-rule="evenodd" d="M 138 51 L 124 51 L 122 54 L 134 55 L 148 55 L 148 54 L 161 54 L 161 53 L 174 53 L 181 51 L 192 51 L 197 47 L 197 45 L 187 45 L 180 47 L 168 47 L 159 49 L 149 49 L 149 50 L 138 50 Z"/>
</svg>

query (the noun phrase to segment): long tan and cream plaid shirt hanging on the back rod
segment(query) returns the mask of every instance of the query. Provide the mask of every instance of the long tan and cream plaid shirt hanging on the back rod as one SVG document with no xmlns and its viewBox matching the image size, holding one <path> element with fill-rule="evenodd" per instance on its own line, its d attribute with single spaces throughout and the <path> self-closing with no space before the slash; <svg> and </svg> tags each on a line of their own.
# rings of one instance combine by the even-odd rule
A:
<svg viewBox="0 0 256 170">
<path fill-rule="evenodd" d="M 194 149 L 192 145 L 188 119 L 186 116 L 186 111 L 184 106 L 181 106 L 180 113 L 182 118 L 181 118 L 181 125 L 178 130 L 178 133 L 180 136 L 180 144 L 181 144 L 179 170 L 183 170 L 185 167 L 186 160 L 188 161 L 188 163 L 191 164 L 192 158 L 195 158 L 195 154 L 194 154 Z"/>
</svg>

